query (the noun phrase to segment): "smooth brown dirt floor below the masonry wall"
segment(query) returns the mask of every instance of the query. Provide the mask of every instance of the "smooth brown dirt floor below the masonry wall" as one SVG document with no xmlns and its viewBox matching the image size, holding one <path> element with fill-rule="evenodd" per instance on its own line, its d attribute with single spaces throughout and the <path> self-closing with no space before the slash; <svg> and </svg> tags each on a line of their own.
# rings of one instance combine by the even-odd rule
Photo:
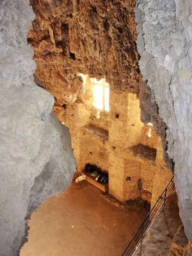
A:
<svg viewBox="0 0 192 256">
<path fill-rule="evenodd" d="M 49 198 L 31 216 L 20 256 L 120 256 L 147 211 L 121 208 L 83 181 Z"/>
</svg>

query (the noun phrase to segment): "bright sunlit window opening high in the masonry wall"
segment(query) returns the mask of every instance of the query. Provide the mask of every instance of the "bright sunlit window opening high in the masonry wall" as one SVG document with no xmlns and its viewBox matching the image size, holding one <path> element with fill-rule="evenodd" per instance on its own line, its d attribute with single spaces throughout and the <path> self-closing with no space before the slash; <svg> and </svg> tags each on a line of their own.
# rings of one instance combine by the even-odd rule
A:
<svg viewBox="0 0 192 256">
<path fill-rule="evenodd" d="M 109 111 L 109 84 L 105 82 L 105 78 L 97 81 L 91 78 L 94 93 L 94 107 L 98 110 Z"/>
</svg>

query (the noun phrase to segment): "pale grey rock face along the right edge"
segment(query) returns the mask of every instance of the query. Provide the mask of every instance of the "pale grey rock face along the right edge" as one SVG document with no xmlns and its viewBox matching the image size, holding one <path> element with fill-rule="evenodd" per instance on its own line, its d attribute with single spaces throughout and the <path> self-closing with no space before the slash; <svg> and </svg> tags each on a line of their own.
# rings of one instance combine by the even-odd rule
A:
<svg viewBox="0 0 192 256">
<path fill-rule="evenodd" d="M 192 1 L 137 0 L 135 15 L 141 73 L 168 127 L 180 217 L 192 240 Z"/>
</svg>

